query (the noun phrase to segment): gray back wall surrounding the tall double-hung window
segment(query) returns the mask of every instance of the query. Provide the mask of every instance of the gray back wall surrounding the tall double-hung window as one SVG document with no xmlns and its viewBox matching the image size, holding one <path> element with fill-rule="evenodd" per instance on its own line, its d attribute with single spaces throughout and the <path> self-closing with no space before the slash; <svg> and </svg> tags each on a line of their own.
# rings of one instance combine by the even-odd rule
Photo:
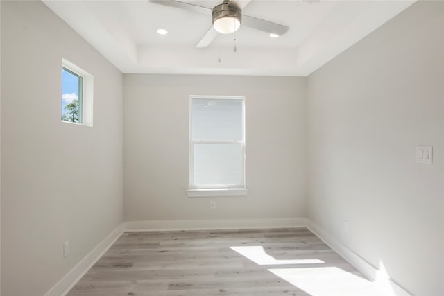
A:
<svg viewBox="0 0 444 296">
<path fill-rule="evenodd" d="M 187 198 L 189 95 L 246 96 L 246 197 Z M 305 78 L 124 76 L 125 220 L 305 217 Z M 205 227 L 205 225 L 201 225 Z"/>
</svg>

